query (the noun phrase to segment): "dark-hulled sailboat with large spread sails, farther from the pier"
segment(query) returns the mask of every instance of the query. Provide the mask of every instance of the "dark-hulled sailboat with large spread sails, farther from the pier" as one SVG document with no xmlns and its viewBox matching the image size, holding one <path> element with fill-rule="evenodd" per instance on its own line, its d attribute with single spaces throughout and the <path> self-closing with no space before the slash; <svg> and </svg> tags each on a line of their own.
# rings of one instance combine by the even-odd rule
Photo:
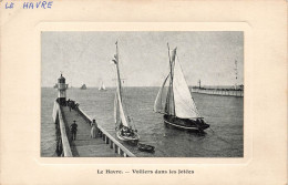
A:
<svg viewBox="0 0 288 185">
<path fill-rule="evenodd" d="M 154 112 L 164 114 L 166 125 L 203 132 L 209 125 L 205 123 L 192 97 L 176 50 L 177 48 L 169 50 L 168 47 L 169 73 L 158 91 Z"/>
</svg>

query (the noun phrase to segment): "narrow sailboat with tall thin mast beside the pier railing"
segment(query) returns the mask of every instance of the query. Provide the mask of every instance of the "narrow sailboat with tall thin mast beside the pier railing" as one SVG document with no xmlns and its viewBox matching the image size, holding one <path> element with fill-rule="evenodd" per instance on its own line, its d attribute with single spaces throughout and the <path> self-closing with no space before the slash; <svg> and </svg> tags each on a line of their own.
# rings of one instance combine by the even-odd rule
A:
<svg viewBox="0 0 288 185">
<path fill-rule="evenodd" d="M 124 102 L 122 97 L 123 90 L 122 90 L 120 69 L 119 69 L 120 60 L 119 60 L 117 42 L 115 44 L 116 44 L 116 54 L 114 55 L 114 59 L 112 61 L 116 66 L 116 92 L 114 99 L 114 121 L 117 130 L 116 135 L 121 141 L 128 142 L 132 144 L 137 144 L 140 140 L 137 130 L 135 130 L 135 125 L 132 123 L 131 117 L 126 116 L 124 112 Z"/>
</svg>

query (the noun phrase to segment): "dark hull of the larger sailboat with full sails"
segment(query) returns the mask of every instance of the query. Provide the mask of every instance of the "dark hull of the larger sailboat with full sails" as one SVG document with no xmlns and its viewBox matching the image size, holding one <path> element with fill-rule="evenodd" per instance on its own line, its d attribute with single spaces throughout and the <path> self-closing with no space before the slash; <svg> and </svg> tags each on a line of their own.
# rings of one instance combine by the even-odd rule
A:
<svg viewBox="0 0 288 185">
<path fill-rule="evenodd" d="M 171 115 L 164 115 L 164 123 L 179 130 L 204 131 L 209 127 L 206 123 L 197 123 L 188 119 L 178 119 Z"/>
</svg>

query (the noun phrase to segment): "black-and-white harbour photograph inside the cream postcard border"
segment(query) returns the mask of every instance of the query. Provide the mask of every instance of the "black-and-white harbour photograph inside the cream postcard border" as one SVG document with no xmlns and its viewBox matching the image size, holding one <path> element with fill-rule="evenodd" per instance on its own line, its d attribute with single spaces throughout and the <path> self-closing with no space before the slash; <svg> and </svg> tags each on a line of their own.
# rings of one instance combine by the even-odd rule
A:
<svg viewBox="0 0 288 185">
<path fill-rule="evenodd" d="M 244 157 L 243 31 L 42 31 L 41 157 Z"/>
</svg>

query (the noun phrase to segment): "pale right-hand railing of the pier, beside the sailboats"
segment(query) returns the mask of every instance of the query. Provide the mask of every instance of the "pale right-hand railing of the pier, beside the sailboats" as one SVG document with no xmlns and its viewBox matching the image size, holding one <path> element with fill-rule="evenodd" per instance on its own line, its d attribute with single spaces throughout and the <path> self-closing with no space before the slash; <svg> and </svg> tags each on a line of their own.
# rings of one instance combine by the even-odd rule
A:
<svg viewBox="0 0 288 185">
<path fill-rule="evenodd" d="M 92 119 L 84 113 L 80 107 L 78 107 L 79 113 L 85 119 L 86 122 L 91 123 Z M 125 146 L 123 146 L 119 141 L 116 141 L 112 135 L 110 135 L 101 125 L 97 124 L 97 129 L 100 131 L 100 136 L 105 142 L 105 144 L 110 145 L 110 148 L 114 148 L 114 152 L 124 157 L 135 157 L 133 153 L 131 153 Z"/>
</svg>

